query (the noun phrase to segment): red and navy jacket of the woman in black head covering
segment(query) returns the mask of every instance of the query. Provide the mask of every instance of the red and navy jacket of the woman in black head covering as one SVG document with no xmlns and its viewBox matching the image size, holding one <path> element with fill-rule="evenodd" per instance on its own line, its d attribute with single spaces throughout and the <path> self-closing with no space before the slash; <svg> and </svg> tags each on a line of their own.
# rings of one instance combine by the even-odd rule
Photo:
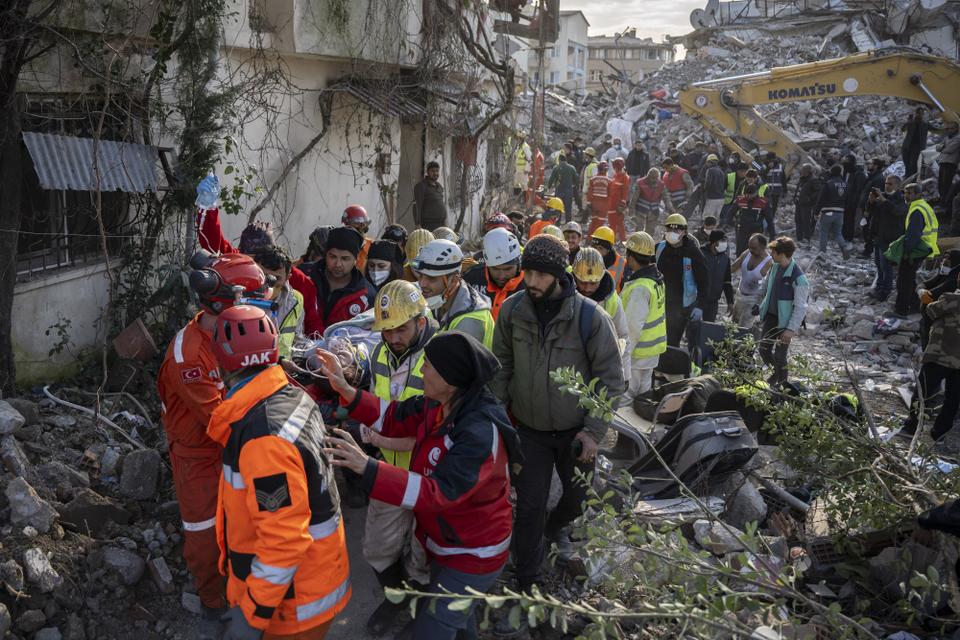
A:
<svg viewBox="0 0 960 640">
<path fill-rule="evenodd" d="M 475 574 L 503 567 L 513 532 L 508 447 L 519 448 L 503 405 L 473 392 L 440 420 L 423 396 L 388 404 L 360 391 L 348 409 L 385 436 L 416 437 L 409 471 L 370 459 L 362 480 L 370 497 L 412 509 L 437 564 Z"/>
</svg>

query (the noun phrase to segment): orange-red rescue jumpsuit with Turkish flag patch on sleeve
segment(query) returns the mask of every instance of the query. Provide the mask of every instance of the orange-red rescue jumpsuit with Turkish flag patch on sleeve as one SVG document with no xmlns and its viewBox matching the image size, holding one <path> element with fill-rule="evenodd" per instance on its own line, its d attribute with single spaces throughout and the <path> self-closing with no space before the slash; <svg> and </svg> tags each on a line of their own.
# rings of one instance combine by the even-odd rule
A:
<svg viewBox="0 0 960 640">
<path fill-rule="evenodd" d="M 170 445 L 173 485 L 183 521 L 183 559 L 204 606 L 226 606 L 226 582 L 217 566 L 217 488 L 222 448 L 207 436 L 210 415 L 223 400 L 223 382 L 211 333 L 191 320 L 167 347 L 157 390 Z"/>
</svg>

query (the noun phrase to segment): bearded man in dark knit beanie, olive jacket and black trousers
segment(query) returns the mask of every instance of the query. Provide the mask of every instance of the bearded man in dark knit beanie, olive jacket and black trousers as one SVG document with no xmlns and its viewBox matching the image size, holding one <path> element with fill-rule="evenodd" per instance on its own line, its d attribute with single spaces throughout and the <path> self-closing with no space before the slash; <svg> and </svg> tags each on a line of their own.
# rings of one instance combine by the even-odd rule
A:
<svg viewBox="0 0 960 640">
<path fill-rule="evenodd" d="M 609 424 L 591 417 L 575 396 L 560 390 L 550 371 L 560 364 L 598 378 L 608 397 L 623 393 L 620 350 L 613 323 L 596 303 L 577 293 L 561 240 L 537 236 L 523 251 L 526 290 L 500 310 L 494 354 L 502 368 L 490 383 L 520 433 L 523 465 L 515 477 L 516 526 L 512 540 L 521 591 L 540 581 L 544 532 L 570 553 L 569 524 L 581 514 L 586 489 L 576 470 L 590 473 Z M 562 353 L 562 357 L 558 354 Z M 488 427 L 489 429 L 489 427 Z M 577 444 L 574 445 L 574 442 Z M 563 484 L 560 503 L 547 519 L 554 468 Z"/>
</svg>

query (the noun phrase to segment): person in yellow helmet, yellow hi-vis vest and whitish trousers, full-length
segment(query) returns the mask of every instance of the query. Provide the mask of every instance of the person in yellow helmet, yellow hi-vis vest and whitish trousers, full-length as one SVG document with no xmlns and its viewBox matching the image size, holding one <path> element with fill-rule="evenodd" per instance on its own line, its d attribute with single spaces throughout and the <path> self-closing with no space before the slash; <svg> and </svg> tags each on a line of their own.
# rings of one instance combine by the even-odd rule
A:
<svg viewBox="0 0 960 640">
<path fill-rule="evenodd" d="M 629 404 L 653 386 L 653 370 L 667 350 L 666 294 L 663 276 L 657 270 L 656 247 L 646 231 L 630 234 L 627 260 L 630 277 L 623 285 L 623 308 L 627 316 L 627 348 L 630 386 L 621 404 Z"/>
</svg>

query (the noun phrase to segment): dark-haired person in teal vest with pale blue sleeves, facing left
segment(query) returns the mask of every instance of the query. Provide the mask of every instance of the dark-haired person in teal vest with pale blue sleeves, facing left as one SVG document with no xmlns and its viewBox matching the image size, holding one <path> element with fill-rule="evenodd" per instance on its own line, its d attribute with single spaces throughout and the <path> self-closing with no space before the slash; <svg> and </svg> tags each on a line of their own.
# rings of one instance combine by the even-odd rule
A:
<svg viewBox="0 0 960 640">
<path fill-rule="evenodd" d="M 807 314 L 810 282 L 793 259 L 797 245 L 792 239 L 780 236 L 768 249 L 773 268 L 767 276 L 767 292 L 760 303 L 759 350 L 763 363 L 773 367 L 767 383 L 778 386 L 787 381 L 787 351 Z"/>
</svg>

